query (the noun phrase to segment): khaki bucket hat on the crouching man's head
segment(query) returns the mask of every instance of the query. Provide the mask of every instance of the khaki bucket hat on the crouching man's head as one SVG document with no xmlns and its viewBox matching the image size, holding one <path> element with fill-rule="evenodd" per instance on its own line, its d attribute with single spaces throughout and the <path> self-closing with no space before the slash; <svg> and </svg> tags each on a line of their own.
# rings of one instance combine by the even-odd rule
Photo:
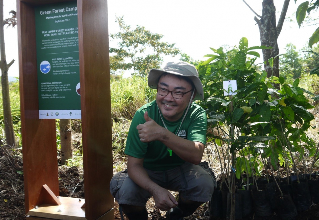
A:
<svg viewBox="0 0 319 220">
<path fill-rule="evenodd" d="M 204 100 L 203 84 L 198 78 L 198 73 L 194 65 L 183 61 L 168 62 L 162 70 L 151 69 L 148 74 L 148 86 L 152 89 L 156 89 L 159 78 L 164 72 L 189 78 L 196 88 L 194 100 Z"/>
</svg>

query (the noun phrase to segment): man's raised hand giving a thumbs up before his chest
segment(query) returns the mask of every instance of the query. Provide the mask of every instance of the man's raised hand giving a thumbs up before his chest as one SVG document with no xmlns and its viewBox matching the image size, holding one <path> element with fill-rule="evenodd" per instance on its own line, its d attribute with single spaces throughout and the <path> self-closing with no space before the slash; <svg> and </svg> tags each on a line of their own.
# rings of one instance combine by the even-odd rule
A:
<svg viewBox="0 0 319 220">
<path fill-rule="evenodd" d="M 136 129 L 138 130 L 138 137 L 142 142 L 148 143 L 153 140 L 159 140 L 161 134 L 163 133 L 162 126 L 159 126 L 152 118 L 148 116 L 148 112 L 144 113 L 144 124 L 137 125 Z"/>
</svg>

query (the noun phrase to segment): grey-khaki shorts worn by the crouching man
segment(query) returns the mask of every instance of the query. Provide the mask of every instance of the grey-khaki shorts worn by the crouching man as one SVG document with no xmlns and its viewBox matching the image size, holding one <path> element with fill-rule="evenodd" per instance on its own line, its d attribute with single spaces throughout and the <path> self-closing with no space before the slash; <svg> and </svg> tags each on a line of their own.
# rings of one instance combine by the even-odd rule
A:
<svg viewBox="0 0 319 220">
<path fill-rule="evenodd" d="M 150 171 L 145 169 L 159 186 L 179 192 L 183 198 L 192 201 L 211 201 L 216 188 L 216 180 L 207 162 L 199 165 L 185 162 L 168 171 Z M 152 195 L 137 186 L 129 177 L 127 170 L 116 173 L 110 182 L 110 191 L 119 204 L 145 206 Z"/>
</svg>

